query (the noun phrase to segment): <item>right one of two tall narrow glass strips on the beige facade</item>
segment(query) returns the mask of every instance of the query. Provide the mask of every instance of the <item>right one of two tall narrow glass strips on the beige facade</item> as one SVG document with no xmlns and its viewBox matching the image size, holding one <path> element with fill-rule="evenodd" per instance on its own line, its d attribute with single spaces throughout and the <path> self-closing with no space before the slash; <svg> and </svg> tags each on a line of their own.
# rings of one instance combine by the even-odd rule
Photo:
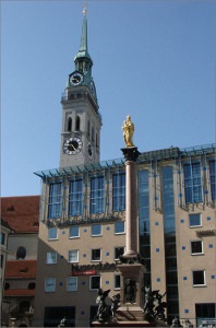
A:
<svg viewBox="0 0 216 328">
<path fill-rule="evenodd" d="M 168 303 L 167 316 L 168 320 L 171 320 L 173 316 L 179 315 L 172 166 L 164 166 L 161 168 L 161 187 L 165 233 L 166 284 Z"/>
</svg>

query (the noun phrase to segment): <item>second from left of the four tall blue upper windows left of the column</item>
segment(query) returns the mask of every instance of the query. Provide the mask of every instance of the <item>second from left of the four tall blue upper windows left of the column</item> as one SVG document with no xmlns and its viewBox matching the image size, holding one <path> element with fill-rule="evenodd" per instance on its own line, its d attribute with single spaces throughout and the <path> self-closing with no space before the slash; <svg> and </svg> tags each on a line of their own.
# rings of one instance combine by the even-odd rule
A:
<svg viewBox="0 0 216 328">
<path fill-rule="evenodd" d="M 83 181 L 72 180 L 69 188 L 69 216 L 82 215 Z"/>
</svg>

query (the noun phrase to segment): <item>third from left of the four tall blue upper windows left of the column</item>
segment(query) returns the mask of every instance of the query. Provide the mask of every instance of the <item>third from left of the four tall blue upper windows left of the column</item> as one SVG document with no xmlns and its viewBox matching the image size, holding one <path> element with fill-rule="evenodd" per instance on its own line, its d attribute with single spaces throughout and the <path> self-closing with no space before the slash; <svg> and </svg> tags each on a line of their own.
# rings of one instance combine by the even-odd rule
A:
<svg viewBox="0 0 216 328">
<path fill-rule="evenodd" d="M 105 207 L 104 176 L 91 179 L 91 214 L 103 213 Z"/>
</svg>

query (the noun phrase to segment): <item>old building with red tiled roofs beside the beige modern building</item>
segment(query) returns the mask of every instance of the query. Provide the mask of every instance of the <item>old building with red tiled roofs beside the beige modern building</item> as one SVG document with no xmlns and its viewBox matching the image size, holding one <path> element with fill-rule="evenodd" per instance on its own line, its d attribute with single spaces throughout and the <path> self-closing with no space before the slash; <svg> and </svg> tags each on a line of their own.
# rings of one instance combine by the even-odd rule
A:
<svg viewBox="0 0 216 328">
<path fill-rule="evenodd" d="M 2 197 L 1 215 L 11 227 L 3 284 L 2 326 L 29 327 L 36 286 L 39 196 Z"/>
</svg>

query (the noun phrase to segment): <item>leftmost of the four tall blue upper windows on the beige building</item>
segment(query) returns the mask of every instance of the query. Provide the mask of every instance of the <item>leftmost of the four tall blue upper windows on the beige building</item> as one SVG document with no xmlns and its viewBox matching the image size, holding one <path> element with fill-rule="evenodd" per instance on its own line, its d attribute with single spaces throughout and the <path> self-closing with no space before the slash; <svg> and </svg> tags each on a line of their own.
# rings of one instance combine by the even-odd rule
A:
<svg viewBox="0 0 216 328">
<path fill-rule="evenodd" d="M 61 218 L 61 183 L 50 184 L 48 204 L 49 219 Z"/>
</svg>

